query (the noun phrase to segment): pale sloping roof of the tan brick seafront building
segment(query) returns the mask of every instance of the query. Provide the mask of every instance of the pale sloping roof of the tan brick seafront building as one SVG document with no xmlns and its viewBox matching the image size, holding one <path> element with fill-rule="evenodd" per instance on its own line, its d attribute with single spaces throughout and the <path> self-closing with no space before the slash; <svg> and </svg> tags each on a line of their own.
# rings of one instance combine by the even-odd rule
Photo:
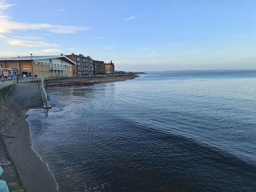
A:
<svg viewBox="0 0 256 192">
<path fill-rule="evenodd" d="M 50 55 L 50 56 L 32 56 L 32 60 L 41 60 L 41 59 L 54 59 L 59 58 L 63 61 L 69 62 L 72 65 L 76 65 L 76 63 L 69 58 L 67 58 L 65 55 Z M 30 61 L 31 56 L 26 57 L 11 57 L 11 58 L 0 58 L 0 61 Z"/>
</svg>

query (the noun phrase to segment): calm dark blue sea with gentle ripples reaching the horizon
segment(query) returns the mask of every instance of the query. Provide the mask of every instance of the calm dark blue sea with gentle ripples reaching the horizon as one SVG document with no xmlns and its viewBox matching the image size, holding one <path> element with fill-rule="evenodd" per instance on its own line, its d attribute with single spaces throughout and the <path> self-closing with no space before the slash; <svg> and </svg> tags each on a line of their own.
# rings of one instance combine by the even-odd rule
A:
<svg viewBox="0 0 256 192">
<path fill-rule="evenodd" d="M 28 122 L 61 192 L 256 191 L 256 72 L 49 91 Z"/>
</svg>

